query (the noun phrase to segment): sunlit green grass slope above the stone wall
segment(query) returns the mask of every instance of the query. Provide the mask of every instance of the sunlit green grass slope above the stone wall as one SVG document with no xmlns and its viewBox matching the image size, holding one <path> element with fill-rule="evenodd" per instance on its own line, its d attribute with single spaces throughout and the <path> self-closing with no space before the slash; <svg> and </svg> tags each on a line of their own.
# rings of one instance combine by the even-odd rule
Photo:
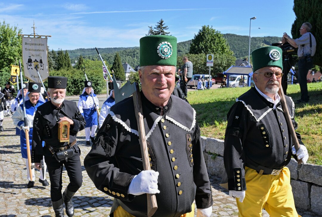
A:
<svg viewBox="0 0 322 217">
<path fill-rule="evenodd" d="M 227 126 L 227 113 L 235 99 L 249 90 L 244 88 L 222 88 L 188 92 L 188 100 L 196 110 L 196 120 L 201 128 L 201 135 L 224 139 Z M 309 83 L 310 101 L 295 104 L 296 130 L 308 148 L 308 163 L 322 165 L 322 82 Z M 300 99 L 299 85 L 289 85 L 288 96 L 294 102 Z"/>
</svg>

